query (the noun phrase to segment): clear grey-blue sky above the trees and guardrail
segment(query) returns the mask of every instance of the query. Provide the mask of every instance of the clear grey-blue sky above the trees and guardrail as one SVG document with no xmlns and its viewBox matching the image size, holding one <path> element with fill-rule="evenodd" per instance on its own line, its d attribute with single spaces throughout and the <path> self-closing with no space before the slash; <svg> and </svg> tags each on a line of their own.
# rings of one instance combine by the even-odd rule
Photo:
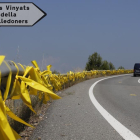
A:
<svg viewBox="0 0 140 140">
<path fill-rule="evenodd" d="M 13 2 L 1 0 L 1 2 Z M 14 0 L 14 2 L 29 2 Z M 30 0 L 47 16 L 33 27 L 0 27 L 6 60 L 66 73 L 97 52 L 116 68 L 140 62 L 139 0 Z"/>
</svg>

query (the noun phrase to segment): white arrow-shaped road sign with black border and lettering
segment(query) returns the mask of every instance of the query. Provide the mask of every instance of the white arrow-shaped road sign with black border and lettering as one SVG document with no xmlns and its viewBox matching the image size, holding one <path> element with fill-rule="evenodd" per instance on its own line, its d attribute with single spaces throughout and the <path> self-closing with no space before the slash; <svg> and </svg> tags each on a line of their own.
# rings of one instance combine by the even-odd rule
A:
<svg viewBox="0 0 140 140">
<path fill-rule="evenodd" d="M 31 2 L 0 2 L 0 26 L 33 26 L 46 15 Z"/>
</svg>

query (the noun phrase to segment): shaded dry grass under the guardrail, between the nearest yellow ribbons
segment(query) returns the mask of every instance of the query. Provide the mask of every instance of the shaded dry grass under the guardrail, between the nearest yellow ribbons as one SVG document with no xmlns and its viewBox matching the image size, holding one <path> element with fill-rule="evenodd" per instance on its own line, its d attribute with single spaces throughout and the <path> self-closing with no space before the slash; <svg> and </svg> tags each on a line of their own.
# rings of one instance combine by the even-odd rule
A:
<svg viewBox="0 0 140 140">
<path fill-rule="evenodd" d="M 40 110 L 41 106 L 42 106 L 42 102 L 39 101 L 39 99 L 37 98 L 37 96 L 30 96 L 31 97 L 31 101 L 32 101 L 32 106 L 34 108 L 34 110 L 36 112 L 38 112 L 38 110 Z M 22 100 L 11 100 L 8 99 L 6 100 L 6 105 L 11 109 L 11 111 L 16 114 L 18 117 L 20 117 L 21 119 L 23 119 L 24 121 L 28 122 L 30 116 L 33 116 L 32 111 L 22 102 Z M 13 119 L 11 119 L 9 116 L 8 117 L 8 121 L 11 125 L 11 127 L 16 130 L 16 132 L 21 132 L 23 131 L 25 125 L 14 121 Z"/>
</svg>

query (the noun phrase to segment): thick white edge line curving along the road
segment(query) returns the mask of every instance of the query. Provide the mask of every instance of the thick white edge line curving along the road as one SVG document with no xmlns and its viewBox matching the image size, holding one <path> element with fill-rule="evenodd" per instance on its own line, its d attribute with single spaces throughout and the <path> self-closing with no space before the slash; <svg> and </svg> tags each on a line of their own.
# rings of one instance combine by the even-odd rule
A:
<svg viewBox="0 0 140 140">
<path fill-rule="evenodd" d="M 128 74 L 125 74 L 128 75 Z M 101 115 L 107 120 L 107 122 L 125 139 L 125 140 L 140 140 L 138 136 L 136 136 L 133 132 L 131 132 L 129 129 L 127 129 L 124 125 L 122 125 L 119 121 L 117 121 L 111 114 L 109 114 L 96 100 L 94 97 L 93 89 L 97 83 L 100 81 L 119 77 L 119 76 L 125 76 L 123 75 L 117 75 L 117 76 L 111 76 L 107 78 L 103 78 L 101 80 L 96 81 L 89 89 L 89 97 L 93 103 L 93 105 L 96 107 L 96 109 L 101 113 Z"/>
</svg>

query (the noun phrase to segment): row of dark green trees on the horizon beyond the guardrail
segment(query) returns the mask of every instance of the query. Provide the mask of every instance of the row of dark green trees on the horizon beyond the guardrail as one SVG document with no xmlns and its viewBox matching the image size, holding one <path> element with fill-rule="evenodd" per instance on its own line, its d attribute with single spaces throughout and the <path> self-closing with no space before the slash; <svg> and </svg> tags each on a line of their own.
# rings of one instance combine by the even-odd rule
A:
<svg viewBox="0 0 140 140">
<path fill-rule="evenodd" d="M 114 70 L 115 66 L 112 62 L 107 60 L 102 60 L 102 57 L 97 52 L 89 55 L 88 62 L 86 63 L 85 70 Z M 118 67 L 118 69 L 124 69 L 123 66 Z"/>
</svg>

